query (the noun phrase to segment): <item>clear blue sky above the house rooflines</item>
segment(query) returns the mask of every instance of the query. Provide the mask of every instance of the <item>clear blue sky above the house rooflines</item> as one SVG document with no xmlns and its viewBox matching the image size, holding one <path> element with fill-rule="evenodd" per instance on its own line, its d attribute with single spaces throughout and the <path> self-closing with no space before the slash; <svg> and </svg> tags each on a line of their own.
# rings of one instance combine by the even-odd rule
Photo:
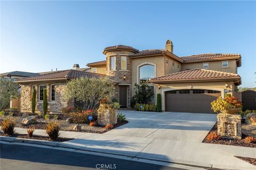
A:
<svg viewBox="0 0 256 170">
<path fill-rule="evenodd" d="M 103 48 L 130 45 L 174 53 L 238 53 L 243 87 L 255 87 L 255 1 L 1 1 L 1 66 L 9 71 L 71 69 L 105 60 Z"/>
</svg>

